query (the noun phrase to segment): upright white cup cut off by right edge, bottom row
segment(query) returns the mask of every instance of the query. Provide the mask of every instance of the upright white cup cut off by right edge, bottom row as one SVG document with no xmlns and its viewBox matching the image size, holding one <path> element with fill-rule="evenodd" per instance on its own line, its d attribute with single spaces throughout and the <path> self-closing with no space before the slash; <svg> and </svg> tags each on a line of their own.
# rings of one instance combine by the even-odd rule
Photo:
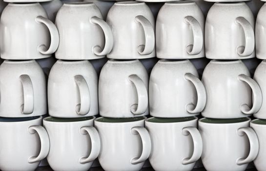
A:
<svg viewBox="0 0 266 171">
<path fill-rule="evenodd" d="M 266 168 L 266 121 L 255 119 L 250 122 L 250 127 L 254 129 L 259 139 L 259 153 L 254 160 L 254 165 L 258 171 L 265 171 Z"/>
</svg>

